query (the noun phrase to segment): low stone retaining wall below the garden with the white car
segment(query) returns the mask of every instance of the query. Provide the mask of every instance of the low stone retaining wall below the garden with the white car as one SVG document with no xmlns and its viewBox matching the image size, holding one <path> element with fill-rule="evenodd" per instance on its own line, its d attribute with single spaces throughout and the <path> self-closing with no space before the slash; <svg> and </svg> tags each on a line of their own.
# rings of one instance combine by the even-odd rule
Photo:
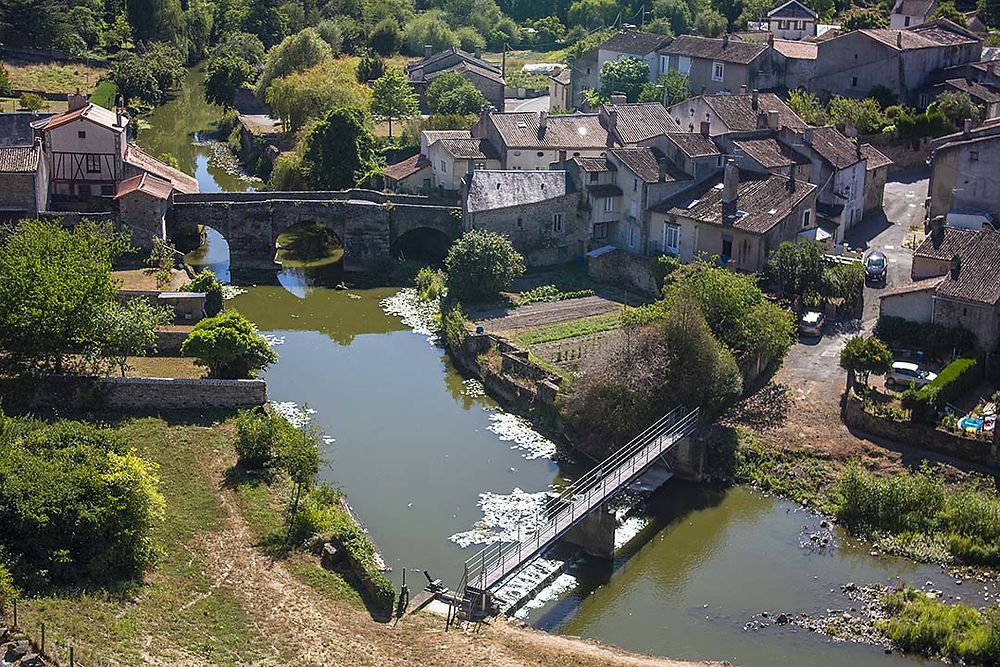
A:
<svg viewBox="0 0 1000 667">
<path fill-rule="evenodd" d="M 957 459 L 997 467 L 1000 466 L 1000 443 L 967 438 L 924 424 L 896 421 L 879 417 L 865 410 L 864 403 L 851 392 L 844 403 L 844 423 L 859 431 L 893 442 L 920 447 Z"/>
</svg>

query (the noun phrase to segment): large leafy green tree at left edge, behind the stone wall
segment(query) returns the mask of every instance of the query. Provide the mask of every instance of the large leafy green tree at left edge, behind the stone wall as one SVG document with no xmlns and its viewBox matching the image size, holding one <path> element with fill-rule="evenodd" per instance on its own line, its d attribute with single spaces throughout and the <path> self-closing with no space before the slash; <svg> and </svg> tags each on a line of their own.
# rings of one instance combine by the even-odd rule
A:
<svg viewBox="0 0 1000 667">
<path fill-rule="evenodd" d="M 114 261 L 128 236 L 108 224 L 69 230 L 26 220 L 0 242 L 0 349 L 18 370 L 62 373 L 92 340 L 94 323 L 118 294 Z"/>
</svg>

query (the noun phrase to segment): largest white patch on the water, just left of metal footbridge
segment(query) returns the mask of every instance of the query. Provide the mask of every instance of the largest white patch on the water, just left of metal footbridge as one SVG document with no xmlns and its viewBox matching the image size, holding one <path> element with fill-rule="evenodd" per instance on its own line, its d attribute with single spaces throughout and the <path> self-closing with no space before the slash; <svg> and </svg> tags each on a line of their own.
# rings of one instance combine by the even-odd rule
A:
<svg viewBox="0 0 1000 667">
<path fill-rule="evenodd" d="M 480 493 L 477 504 L 483 511 L 483 518 L 472 530 L 455 533 L 448 539 L 463 549 L 475 544 L 517 542 L 518 536 L 522 541 L 527 540 L 541 525 L 541 509 L 550 497 L 552 494 L 548 491 L 528 493 L 518 488 L 509 495 Z"/>
</svg>

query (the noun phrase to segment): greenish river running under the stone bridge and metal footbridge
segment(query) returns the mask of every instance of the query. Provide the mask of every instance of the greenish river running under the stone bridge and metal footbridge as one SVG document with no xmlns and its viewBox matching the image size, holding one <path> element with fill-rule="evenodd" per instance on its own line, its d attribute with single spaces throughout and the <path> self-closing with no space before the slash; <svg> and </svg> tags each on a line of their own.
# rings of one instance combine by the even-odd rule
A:
<svg viewBox="0 0 1000 667">
<path fill-rule="evenodd" d="M 197 75 L 187 85 L 199 85 Z M 217 178 L 210 157 L 201 161 L 205 146 L 184 148 L 198 136 L 194 126 L 210 125 L 209 111 L 218 110 L 187 87 L 178 100 L 187 115 L 161 108 L 140 143 L 175 133 L 171 152 L 199 181 L 248 187 L 227 170 Z M 158 118 L 168 126 L 158 127 Z M 224 243 L 208 238 L 200 259 L 225 275 Z M 279 353 L 265 373 L 271 400 L 326 434 L 322 477 L 345 491 L 397 584 L 405 567 L 411 582 L 427 570 L 455 585 L 477 542 L 515 536 L 544 492 L 588 467 L 464 380 L 398 290 L 310 287 L 292 271 L 276 282 L 245 287 L 228 307 L 271 337 Z M 827 530 L 821 517 L 748 488 L 670 480 L 640 514 L 628 525 L 645 528 L 613 564 L 575 558 L 557 580 L 562 590 L 532 605 L 529 622 L 638 651 L 747 667 L 918 664 L 794 624 L 745 626 L 762 611 L 772 619 L 854 613 L 856 603 L 841 592 L 848 582 L 933 582 L 967 599 L 981 587 L 956 587 L 940 567 L 873 557 L 868 545 Z M 829 542 L 810 539 L 817 534 Z"/>
</svg>

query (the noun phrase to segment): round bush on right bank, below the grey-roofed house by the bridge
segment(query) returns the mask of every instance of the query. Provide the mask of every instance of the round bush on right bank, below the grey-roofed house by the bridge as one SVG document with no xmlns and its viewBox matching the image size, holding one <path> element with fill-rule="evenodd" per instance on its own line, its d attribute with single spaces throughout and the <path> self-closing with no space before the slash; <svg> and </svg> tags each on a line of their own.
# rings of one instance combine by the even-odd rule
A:
<svg viewBox="0 0 1000 667">
<path fill-rule="evenodd" d="M 450 295 L 485 301 L 509 288 L 524 273 L 524 258 L 506 236 L 473 229 L 451 246 L 445 266 Z"/>
</svg>

